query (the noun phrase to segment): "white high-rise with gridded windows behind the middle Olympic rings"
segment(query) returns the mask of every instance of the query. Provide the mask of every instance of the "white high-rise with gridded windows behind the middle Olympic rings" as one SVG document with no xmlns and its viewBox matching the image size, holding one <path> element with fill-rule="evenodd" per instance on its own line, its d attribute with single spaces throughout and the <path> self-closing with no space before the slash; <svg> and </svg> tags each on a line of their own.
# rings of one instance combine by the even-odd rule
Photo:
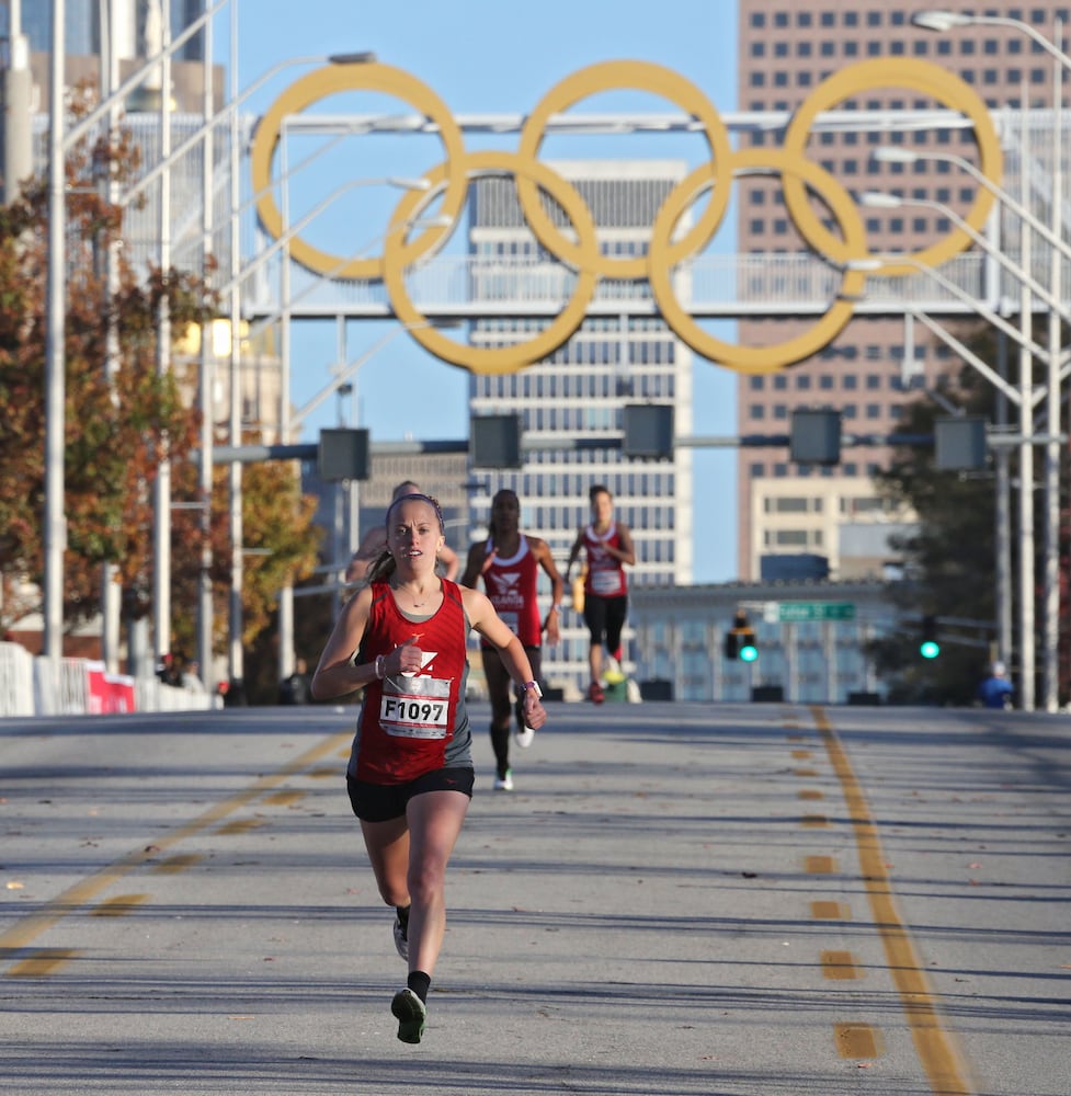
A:
<svg viewBox="0 0 1071 1096">
<path fill-rule="evenodd" d="M 588 203 L 603 253 L 618 256 L 646 253 L 660 204 L 687 172 L 675 161 L 552 167 Z M 481 267 L 503 260 L 501 277 L 472 287 L 474 297 L 502 318 L 478 321 L 472 342 L 514 343 L 545 327 L 546 319 L 519 313 L 526 299 L 538 296 L 538 279 L 560 277 L 561 267 L 527 228 L 511 180 L 477 181 L 469 225 L 470 250 L 483 260 Z M 615 516 L 633 533 L 636 566 L 628 569 L 629 581 L 692 582 L 691 450 L 648 459 L 628 457 L 620 446 L 628 404 L 671 408 L 675 433 L 687 435 L 692 427 L 692 355 L 650 315 L 649 299 L 646 282 L 604 282 L 581 329 L 552 356 L 520 373 L 472 375 L 472 414 L 515 412 L 524 431 L 523 467 L 477 472 L 470 484 L 474 534 L 486 527 L 494 492 L 512 488 L 521 499 L 524 530 L 543 537 L 563 569 L 578 528 L 590 521 L 588 491 L 602 483 L 614 495 Z M 565 624 L 562 642 L 545 652 L 544 673 L 548 681 L 581 685 L 588 633 L 576 614 Z"/>
</svg>

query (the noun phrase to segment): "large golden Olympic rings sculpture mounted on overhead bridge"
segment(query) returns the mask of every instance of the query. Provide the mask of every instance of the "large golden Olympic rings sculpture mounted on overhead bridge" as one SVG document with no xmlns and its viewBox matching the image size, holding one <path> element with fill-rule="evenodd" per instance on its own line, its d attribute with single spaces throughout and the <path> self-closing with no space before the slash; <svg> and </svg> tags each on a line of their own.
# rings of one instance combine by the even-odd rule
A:
<svg viewBox="0 0 1071 1096">
<path fill-rule="evenodd" d="M 342 91 L 378 91 L 395 95 L 415 107 L 438 130 L 445 159 L 424 179 L 430 189 L 402 195 L 390 218 L 383 254 L 346 261 L 312 247 L 300 238 L 290 243 L 290 255 L 308 270 L 328 277 L 381 281 L 396 316 L 425 350 L 443 361 L 479 374 L 514 373 L 552 354 L 583 322 L 600 278 L 646 278 L 661 318 L 674 334 L 695 353 L 740 373 L 773 373 L 820 351 L 844 329 L 852 317 L 851 297 L 864 287 L 866 274 L 852 269 L 855 260 L 874 260 L 880 265 L 871 273 L 902 275 L 920 265 L 937 266 L 971 246 L 970 230 L 983 229 L 995 202 L 995 193 L 979 187 L 973 204 L 964 216 L 968 229 L 957 227 L 945 237 L 902 262 L 882 260 L 867 250 L 866 233 L 851 195 L 828 171 L 807 159 L 807 138 L 817 116 L 836 103 L 868 89 L 910 88 L 945 107 L 965 115 L 973 127 L 979 170 L 998 184 L 1002 171 L 1000 140 L 984 102 L 954 73 L 928 61 L 880 58 L 851 65 L 823 80 L 796 110 L 785 130 L 782 149 L 733 151 L 729 134 L 713 103 L 690 80 L 649 61 L 603 61 L 566 77 L 543 98 L 521 130 L 516 152 L 468 152 L 457 122 L 445 103 L 414 76 L 388 65 L 330 65 L 316 69 L 287 88 L 262 117 L 253 139 L 251 171 L 253 191 L 260 194 L 260 220 L 275 239 L 283 236 L 283 219 L 272 187 L 272 163 L 283 122 L 328 95 Z M 651 226 L 646 255 L 619 258 L 600 252 L 591 210 L 577 189 L 543 163 L 539 149 L 551 115 L 560 114 L 581 100 L 602 91 L 631 89 L 651 92 L 673 102 L 698 123 L 707 148 L 708 162 L 700 164 L 674 186 Z M 716 339 L 704 331 L 676 298 L 673 272 L 714 239 L 729 204 L 730 184 L 740 174 L 775 174 L 782 180 L 785 206 L 796 229 L 818 255 L 842 270 L 840 292 L 822 318 L 811 328 L 771 346 L 741 346 Z M 436 331 L 412 302 L 406 273 L 419 260 L 435 251 L 452 228 L 441 225 L 413 232 L 411 225 L 420 209 L 434 198 L 441 213 L 456 226 L 471 180 L 489 174 L 512 175 L 528 227 L 539 243 L 577 274 L 572 296 L 556 319 L 526 342 L 508 346 L 475 346 L 458 343 Z M 565 212 L 572 235 L 561 232 L 546 214 L 540 201 L 549 195 Z M 706 207 L 684 232 L 676 227 L 684 214 L 702 196 Z M 830 231 L 813 208 L 818 197 L 832 215 L 840 235 Z"/>
</svg>

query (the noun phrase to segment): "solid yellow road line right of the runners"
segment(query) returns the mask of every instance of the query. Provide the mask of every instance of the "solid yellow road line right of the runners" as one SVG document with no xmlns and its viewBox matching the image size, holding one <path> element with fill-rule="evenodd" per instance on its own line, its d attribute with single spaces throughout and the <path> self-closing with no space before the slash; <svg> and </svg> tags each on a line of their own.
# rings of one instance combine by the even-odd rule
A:
<svg viewBox="0 0 1071 1096">
<path fill-rule="evenodd" d="M 930 1078 L 931 1091 L 939 1096 L 970 1096 L 971 1088 L 964 1077 L 966 1071 L 952 1036 L 943 1027 L 936 994 L 897 911 L 881 840 L 866 796 L 825 710 L 812 706 L 811 713 L 844 791 L 875 927 L 881 937 L 889 973 L 900 994 L 900 1004 L 911 1029 L 915 1052 Z"/>
</svg>

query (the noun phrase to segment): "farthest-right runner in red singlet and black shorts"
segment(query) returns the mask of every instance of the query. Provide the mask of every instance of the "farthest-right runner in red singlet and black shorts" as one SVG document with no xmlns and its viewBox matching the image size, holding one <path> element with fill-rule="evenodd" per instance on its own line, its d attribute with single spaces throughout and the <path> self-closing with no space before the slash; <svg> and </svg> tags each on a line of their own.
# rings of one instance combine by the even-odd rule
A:
<svg viewBox="0 0 1071 1096">
<path fill-rule="evenodd" d="M 591 502 L 591 524 L 577 533 L 569 563 L 566 567 L 566 583 L 573 564 L 583 549 L 588 561 L 588 576 L 584 580 L 584 624 L 591 633 L 588 664 L 591 684 L 588 698 L 602 704 L 603 692 L 603 647 L 618 663 L 622 661 L 622 631 L 628 616 L 628 581 L 625 564 L 636 562 L 633 537 L 628 526 L 614 521 L 614 499 L 609 489 L 596 484 L 588 492 Z"/>
</svg>

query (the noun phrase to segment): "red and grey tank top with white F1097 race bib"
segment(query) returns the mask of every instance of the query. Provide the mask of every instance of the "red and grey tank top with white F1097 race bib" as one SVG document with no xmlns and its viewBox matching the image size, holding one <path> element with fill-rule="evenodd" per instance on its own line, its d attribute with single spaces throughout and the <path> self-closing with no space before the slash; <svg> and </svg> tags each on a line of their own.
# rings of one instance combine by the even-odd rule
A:
<svg viewBox="0 0 1071 1096">
<path fill-rule="evenodd" d="M 374 662 L 414 636 L 424 652 L 420 671 L 388 674 L 365 687 L 349 768 L 358 780 L 405 784 L 447 765 L 471 764 L 468 625 L 456 583 L 443 579 L 443 604 L 419 624 L 402 616 L 386 582 L 373 583 L 360 660 Z"/>
</svg>

